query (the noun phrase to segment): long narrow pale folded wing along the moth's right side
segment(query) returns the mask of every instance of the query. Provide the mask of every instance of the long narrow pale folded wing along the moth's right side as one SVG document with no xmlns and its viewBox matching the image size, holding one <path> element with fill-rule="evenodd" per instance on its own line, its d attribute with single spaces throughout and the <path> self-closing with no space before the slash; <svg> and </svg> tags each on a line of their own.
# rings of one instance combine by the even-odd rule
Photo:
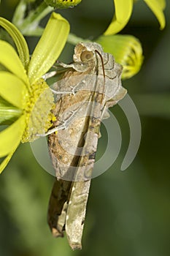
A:
<svg viewBox="0 0 170 256">
<path fill-rule="evenodd" d="M 90 189 L 90 178 L 95 162 L 98 134 L 101 124 L 101 109 L 96 102 L 90 105 L 90 117 L 88 131 L 86 133 L 85 145 L 82 149 L 77 166 L 75 180 L 72 183 L 69 206 L 66 213 L 66 235 L 72 249 L 81 249 L 82 231 L 85 221 L 86 205 Z M 95 118 L 96 115 L 96 118 Z M 99 117 L 99 118 L 98 118 Z"/>
</svg>

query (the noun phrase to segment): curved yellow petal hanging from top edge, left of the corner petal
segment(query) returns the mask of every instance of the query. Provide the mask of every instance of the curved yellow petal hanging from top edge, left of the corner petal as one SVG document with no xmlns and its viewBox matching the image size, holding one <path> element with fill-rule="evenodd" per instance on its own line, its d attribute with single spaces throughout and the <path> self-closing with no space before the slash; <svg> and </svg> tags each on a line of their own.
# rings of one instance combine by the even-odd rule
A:
<svg viewBox="0 0 170 256">
<path fill-rule="evenodd" d="M 128 23 L 133 10 L 133 0 L 114 0 L 115 15 L 109 27 L 104 32 L 105 35 L 116 34 Z"/>
</svg>

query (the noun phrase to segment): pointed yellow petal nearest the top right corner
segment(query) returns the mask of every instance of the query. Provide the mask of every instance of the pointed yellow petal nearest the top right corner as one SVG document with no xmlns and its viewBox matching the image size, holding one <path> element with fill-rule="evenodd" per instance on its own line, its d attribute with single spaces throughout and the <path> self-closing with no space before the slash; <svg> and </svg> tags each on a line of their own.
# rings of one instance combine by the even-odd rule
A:
<svg viewBox="0 0 170 256">
<path fill-rule="evenodd" d="M 160 29 L 164 29 L 166 26 L 165 15 L 163 14 L 163 10 L 166 7 L 165 0 L 144 0 L 145 3 L 150 7 L 152 12 L 155 14 L 156 18 L 160 23 Z"/>
</svg>

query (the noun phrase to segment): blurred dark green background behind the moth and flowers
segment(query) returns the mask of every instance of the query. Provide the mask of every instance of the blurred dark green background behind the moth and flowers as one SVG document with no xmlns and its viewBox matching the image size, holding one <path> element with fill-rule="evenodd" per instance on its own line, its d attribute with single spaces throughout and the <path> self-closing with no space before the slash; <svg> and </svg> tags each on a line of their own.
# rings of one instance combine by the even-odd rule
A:
<svg viewBox="0 0 170 256">
<path fill-rule="evenodd" d="M 16 4 L 2 0 L 0 14 L 11 19 Z M 139 110 L 142 140 L 134 162 L 120 171 L 129 128 L 123 111 L 115 106 L 112 113 L 122 129 L 122 148 L 114 165 L 92 181 L 82 251 L 72 252 L 66 238 L 51 236 L 46 215 L 53 177 L 39 166 L 27 143 L 20 145 L 0 177 L 1 256 L 170 255 L 169 1 L 165 12 L 166 28 L 160 31 L 155 16 L 141 0 L 121 31 L 138 37 L 144 50 L 142 70 L 123 81 Z M 61 13 L 71 23 L 73 33 L 93 39 L 107 28 L 113 4 L 112 0 L 82 0 L 79 6 Z M 27 41 L 32 51 L 37 38 Z M 72 50 L 67 44 L 60 60 L 72 61 Z M 102 130 L 98 154 L 107 139 Z"/>
</svg>

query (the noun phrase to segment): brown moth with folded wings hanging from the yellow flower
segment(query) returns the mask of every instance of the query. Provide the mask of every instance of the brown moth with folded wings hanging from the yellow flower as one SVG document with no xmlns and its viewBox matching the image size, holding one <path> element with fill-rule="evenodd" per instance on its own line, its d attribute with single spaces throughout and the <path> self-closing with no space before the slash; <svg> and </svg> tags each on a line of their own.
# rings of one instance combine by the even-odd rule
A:
<svg viewBox="0 0 170 256">
<path fill-rule="evenodd" d="M 96 42 L 77 44 L 72 64 L 61 66 L 65 72 L 53 90 L 57 120 L 48 132 L 56 178 L 47 219 L 53 236 L 66 232 L 72 249 L 81 249 L 101 120 L 126 89 L 121 85 L 123 68 Z"/>
</svg>

